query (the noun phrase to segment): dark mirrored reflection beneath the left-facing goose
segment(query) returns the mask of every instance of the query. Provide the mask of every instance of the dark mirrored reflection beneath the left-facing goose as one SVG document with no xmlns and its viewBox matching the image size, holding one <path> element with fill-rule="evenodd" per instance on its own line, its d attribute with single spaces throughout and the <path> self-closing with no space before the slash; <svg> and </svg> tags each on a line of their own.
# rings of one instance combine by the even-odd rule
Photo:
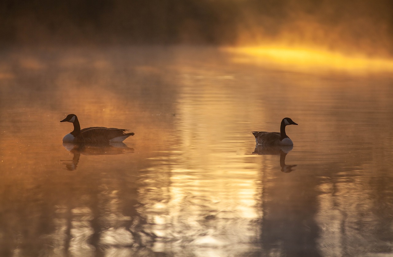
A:
<svg viewBox="0 0 393 257">
<path fill-rule="evenodd" d="M 83 145 L 74 143 L 64 143 L 65 149 L 73 154 L 72 160 L 60 160 L 70 171 L 76 169 L 81 154 L 85 155 L 115 155 L 134 152 L 134 148 L 128 147 L 123 142 L 109 143 L 108 145 Z"/>
</svg>

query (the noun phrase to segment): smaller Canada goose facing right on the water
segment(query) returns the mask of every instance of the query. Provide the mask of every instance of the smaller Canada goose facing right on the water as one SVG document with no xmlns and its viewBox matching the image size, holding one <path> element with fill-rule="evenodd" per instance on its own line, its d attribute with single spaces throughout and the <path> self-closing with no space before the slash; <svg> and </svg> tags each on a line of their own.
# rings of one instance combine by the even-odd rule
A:
<svg viewBox="0 0 393 257">
<path fill-rule="evenodd" d="M 298 125 L 290 118 L 281 121 L 280 132 L 253 131 L 257 145 L 294 145 L 292 140 L 285 133 L 285 126 Z"/>
</svg>

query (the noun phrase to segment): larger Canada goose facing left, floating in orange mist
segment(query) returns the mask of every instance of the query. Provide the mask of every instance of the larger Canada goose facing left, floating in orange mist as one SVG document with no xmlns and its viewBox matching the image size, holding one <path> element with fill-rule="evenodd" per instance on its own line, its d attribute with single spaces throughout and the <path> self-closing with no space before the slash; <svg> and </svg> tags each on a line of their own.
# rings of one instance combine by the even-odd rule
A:
<svg viewBox="0 0 393 257">
<path fill-rule="evenodd" d="M 128 129 L 121 128 L 89 127 L 81 129 L 78 117 L 75 114 L 68 114 L 60 122 L 64 121 L 71 122 L 74 125 L 74 130 L 64 136 L 64 143 L 108 144 L 123 142 L 129 136 L 134 136 L 134 133 L 125 133 Z"/>
</svg>

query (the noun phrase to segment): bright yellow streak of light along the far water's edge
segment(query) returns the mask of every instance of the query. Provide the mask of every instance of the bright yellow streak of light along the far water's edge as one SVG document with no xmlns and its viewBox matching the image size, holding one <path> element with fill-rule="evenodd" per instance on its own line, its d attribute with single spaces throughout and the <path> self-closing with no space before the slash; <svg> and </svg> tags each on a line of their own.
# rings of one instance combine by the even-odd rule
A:
<svg viewBox="0 0 393 257">
<path fill-rule="evenodd" d="M 281 46 L 225 48 L 225 51 L 239 54 L 233 62 L 257 62 L 261 64 L 284 64 L 293 69 L 309 70 L 330 68 L 351 72 L 393 71 L 393 60 L 367 57 L 364 55 L 345 55 L 339 52 L 316 50 L 312 48 L 288 48 Z"/>
</svg>

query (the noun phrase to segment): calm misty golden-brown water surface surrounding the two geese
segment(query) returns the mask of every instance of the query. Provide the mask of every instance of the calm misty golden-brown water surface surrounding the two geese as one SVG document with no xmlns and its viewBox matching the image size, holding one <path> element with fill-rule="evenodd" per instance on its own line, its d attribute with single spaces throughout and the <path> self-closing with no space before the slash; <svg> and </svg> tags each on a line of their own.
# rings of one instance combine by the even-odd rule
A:
<svg viewBox="0 0 393 257">
<path fill-rule="evenodd" d="M 2 50 L 1 256 L 393 255 L 393 75 L 209 48 Z M 71 149 L 81 127 L 124 145 Z M 290 149 L 255 149 L 254 130 Z"/>
</svg>

